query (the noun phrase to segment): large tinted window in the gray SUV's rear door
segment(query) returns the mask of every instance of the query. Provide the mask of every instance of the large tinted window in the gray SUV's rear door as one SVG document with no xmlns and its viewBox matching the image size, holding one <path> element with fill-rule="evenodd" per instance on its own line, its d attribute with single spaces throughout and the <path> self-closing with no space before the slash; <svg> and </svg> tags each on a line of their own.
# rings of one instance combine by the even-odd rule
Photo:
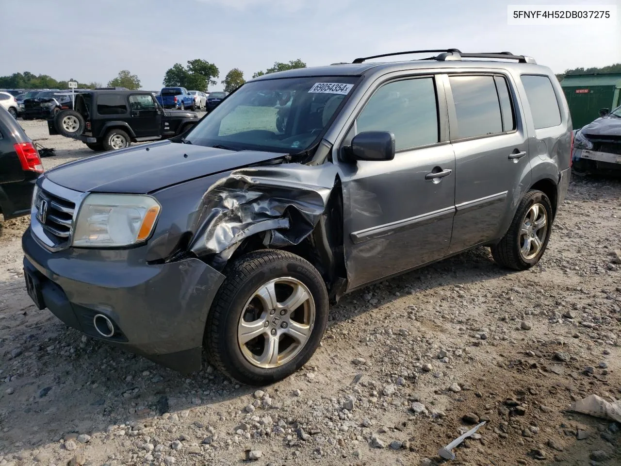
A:
<svg viewBox="0 0 621 466">
<path fill-rule="evenodd" d="M 494 76 L 449 76 L 455 112 L 457 137 L 486 136 L 503 132 L 501 106 Z"/>
</svg>

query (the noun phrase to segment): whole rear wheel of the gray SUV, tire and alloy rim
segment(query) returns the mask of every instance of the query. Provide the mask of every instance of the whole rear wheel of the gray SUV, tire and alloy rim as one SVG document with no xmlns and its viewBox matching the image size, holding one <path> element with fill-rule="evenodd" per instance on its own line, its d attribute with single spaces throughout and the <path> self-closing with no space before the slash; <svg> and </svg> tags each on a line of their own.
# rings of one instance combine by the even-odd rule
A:
<svg viewBox="0 0 621 466">
<path fill-rule="evenodd" d="M 514 270 L 533 267 L 548 246 L 552 220 L 552 204 L 548 196 L 542 191 L 528 191 L 507 234 L 491 248 L 496 263 Z"/>
</svg>

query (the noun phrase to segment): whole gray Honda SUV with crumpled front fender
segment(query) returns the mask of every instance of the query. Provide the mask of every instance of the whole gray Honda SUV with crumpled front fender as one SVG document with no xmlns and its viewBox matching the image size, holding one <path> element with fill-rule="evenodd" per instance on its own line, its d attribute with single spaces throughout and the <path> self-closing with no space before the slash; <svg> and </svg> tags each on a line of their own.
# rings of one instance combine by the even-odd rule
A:
<svg viewBox="0 0 621 466">
<path fill-rule="evenodd" d="M 205 348 L 261 385 L 309 360 L 345 293 L 480 245 L 532 267 L 569 183 L 558 81 L 508 52 L 419 52 L 436 55 L 261 76 L 189 132 L 45 172 L 30 296 L 168 367 L 199 370 Z"/>
</svg>

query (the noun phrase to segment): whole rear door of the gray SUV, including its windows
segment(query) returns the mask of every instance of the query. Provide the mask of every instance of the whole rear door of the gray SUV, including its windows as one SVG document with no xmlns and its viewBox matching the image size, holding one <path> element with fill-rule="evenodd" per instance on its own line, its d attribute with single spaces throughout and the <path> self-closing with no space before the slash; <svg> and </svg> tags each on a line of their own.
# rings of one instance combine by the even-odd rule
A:
<svg viewBox="0 0 621 466">
<path fill-rule="evenodd" d="M 501 237 L 524 184 L 528 140 L 504 76 L 451 76 L 446 98 L 455 150 L 455 221 L 450 252 Z M 494 135 L 496 133 L 496 135 Z"/>
</svg>

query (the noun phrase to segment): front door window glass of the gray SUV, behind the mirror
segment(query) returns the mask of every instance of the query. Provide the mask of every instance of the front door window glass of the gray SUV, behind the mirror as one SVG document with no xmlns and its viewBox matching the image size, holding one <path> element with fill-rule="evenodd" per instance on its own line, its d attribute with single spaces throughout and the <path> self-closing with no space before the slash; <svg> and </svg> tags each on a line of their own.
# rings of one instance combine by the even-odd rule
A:
<svg viewBox="0 0 621 466">
<path fill-rule="evenodd" d="M 396 150 L 438 142 L 438 106 L 433 78 L 388 83 L 371 96 L 356 119 L 356 133 L 389 131 Z"/>
</svg>

